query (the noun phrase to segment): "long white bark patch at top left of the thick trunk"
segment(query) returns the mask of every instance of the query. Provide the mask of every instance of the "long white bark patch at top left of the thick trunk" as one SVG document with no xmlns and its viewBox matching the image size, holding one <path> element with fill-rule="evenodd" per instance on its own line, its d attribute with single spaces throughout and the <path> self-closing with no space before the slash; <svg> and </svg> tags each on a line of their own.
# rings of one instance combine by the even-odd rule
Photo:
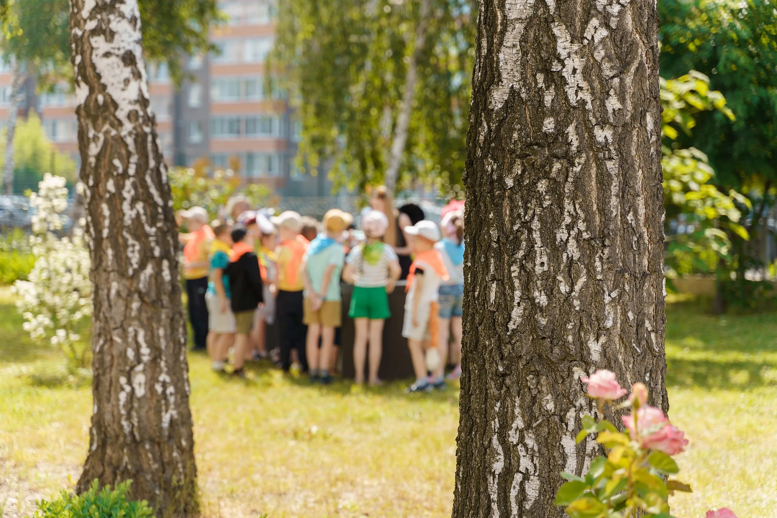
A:
<svg viewBox="0 0 777 518">
<path fill-rule="evenodd" d="M 510 96 L 510 90 L 521 84 L 521 36 L 534 11 L 535 0 L 506 0 L 504 16 L 507 30 L 499 52 L 501 79 L 491 87 L 489 108 L 499 110 Z M 482 48 L 486 48 L 484 44 Z"/>
</svg>

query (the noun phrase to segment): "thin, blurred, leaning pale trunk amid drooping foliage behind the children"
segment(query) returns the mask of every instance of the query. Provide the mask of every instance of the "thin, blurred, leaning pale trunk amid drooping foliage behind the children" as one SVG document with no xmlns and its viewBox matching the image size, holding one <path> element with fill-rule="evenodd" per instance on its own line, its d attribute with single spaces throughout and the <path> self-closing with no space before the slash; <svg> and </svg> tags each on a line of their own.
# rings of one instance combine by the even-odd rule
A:
<svg viewBox="0 0 777 518">
<path fill-rule="evenodd" d="M 396 116 L 394 126 L 394 135 L 391 142 L 391 151 L 389 154 L 389 167 L 386 169 L 384 185 L 386 189 L 394 196 L 396 189 L 396 178 L 399 176 L 399 166 L 402 165 L 402 158 L 405 155 L 405 146 L 407 144 L 407 131 L 410 126 L 410 113 L 413 112 L 413 98 L 416 96 L 416 82 L 418 81 L 418 55 L 423 50 L 423 44 L 427 38 L 427 26 L 429 25 L 430 0 L 421 0 L 420 18 L 416 26 L 416 38 L 413 45 L 413 52 L 410 53 L 405 72 L 405 91 L 402 92 L 402 106 Z"/>
</svg>

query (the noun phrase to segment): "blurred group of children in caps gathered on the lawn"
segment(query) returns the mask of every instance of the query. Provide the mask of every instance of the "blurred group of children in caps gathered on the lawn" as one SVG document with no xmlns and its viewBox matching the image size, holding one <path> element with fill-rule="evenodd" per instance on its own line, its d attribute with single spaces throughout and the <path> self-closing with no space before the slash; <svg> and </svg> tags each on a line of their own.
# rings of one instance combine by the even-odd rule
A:
<svg viewBox="0 0 777 518">
<path fill-rule="evenodd" d="M 392 230 L 385 210 L 361 214 L 363 235 L 354 232 L 353 217 L 339 209 L 329 210 L 321 224 L 292 211 L 271 216 L 249 210 L 242 200 L 227 210 L 231 219 L 211 225 L 201 207 L 179 213 L 190 231 L 182 241 L 194 348 L 207 349 L 214 370 L 227 369 L 232 350 L 235 376 L 244 375 L 246 360 L 271 356 L 285 371 L 295 362 L 311 381 L 332 381 L 344 280 L 354 285 L 347 315 L 354 319 L 355 381 L 380 384 L 389 294 L 406 276 L 402 336 L 408 339 L 416 374 L 408 391 L 444 387 L 451 332 L 450 359 L 456 367 L 450 377 L 461 374 L 460 212 L 446 214 L 440 226 L 421 219 L 395 229 L 412 257 L 409 268 L 403 268 L 385 242 Z M 267 326 L 273 324 L 279 348 L 268 353 Z"/>
</svg>

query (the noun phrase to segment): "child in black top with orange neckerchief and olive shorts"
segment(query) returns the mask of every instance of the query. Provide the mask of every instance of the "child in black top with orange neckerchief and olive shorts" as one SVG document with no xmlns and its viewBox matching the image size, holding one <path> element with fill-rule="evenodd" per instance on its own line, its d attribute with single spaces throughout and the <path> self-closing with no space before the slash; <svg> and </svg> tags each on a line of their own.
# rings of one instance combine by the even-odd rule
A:
<svg viewBox="0 0 777 518">
<path fill-rule="evenodd" d="M 226 274 L 232 291 L 232 311 L 235 313 L 235 376 L 242 377 L 243 363 L 249 351 L 249 333 L 256 308 L 262 304 L 262 275 L 259 271 L 259 259 L 253 252 L 254 237 L 245 225 L 236 224 L 232 228 L 232 253 Z"/>
</svg>

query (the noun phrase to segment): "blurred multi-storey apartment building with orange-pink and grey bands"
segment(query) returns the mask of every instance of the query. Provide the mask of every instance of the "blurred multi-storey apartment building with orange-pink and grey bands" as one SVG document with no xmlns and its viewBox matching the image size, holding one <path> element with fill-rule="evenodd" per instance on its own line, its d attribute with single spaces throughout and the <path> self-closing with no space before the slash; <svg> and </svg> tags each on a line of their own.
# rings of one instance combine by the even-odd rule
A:
<svg viewBox="0 0 777 518">
<path fill-rule="evenodd" d="M 270 73 L 265 59 L 275 39 L 274 0 L 224 0 L 220 7 L 228 22 L 211 36 L 219 51 L 186 58 L 186 79 L 177 91 L 166 64 L 148 64 L 166 161 L 232 167 L 246 183 L 265 183 L 284 197 L 328 196 L 331 183 L 324 175 L 312 177 L 293 167 L 298 123 L 284 92 L 265 88 Z M 0 71 L 0 118 L 4 77 Z M 30 106 L 36 106 L 57 148 L 77 158 L 75 99 L 67 85 Z"/>
</svg>

